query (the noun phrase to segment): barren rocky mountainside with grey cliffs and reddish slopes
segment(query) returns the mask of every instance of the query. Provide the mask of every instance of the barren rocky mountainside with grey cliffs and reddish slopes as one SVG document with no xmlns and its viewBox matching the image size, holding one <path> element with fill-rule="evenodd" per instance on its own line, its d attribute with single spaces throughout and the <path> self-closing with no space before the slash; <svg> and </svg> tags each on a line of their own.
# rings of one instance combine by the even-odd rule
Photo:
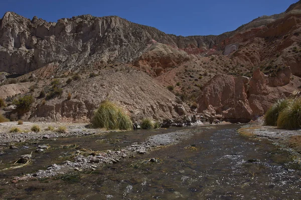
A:
<svg viewBox="0 0 301 200">
<path fill-rule="evenodd" d="M 118 16 L 47 22 L 6 12 L 0 19 L 0 71 L 9 74 L 0 78 L 0 91 L 10 103 L 15 95 L 38 96 L 37 89 L 26 89 L 30 80 L 47 91 L 51 79 L 60 77 L 62 95 L 76 94 L 70 102 L 61 96 L 43 104 L 37 98 L 23 116 L 32 120 L 89 120 L 91 110 L 111 98 L 135 120 L 203 112 L 248 121 L 300 87 L 300 24 L 301 1 L 230 32 L 187 37 Z M 65 82 L 75 73 L 84 78 L 71 87 Z"/>
</svg>

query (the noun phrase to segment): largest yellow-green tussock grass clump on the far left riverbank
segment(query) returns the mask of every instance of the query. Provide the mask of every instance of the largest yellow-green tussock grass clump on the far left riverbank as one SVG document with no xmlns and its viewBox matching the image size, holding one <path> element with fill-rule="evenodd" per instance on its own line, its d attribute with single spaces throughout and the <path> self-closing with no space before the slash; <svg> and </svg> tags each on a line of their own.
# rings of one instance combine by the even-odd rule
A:
<svg viewBox="0 0 301 200">
<path fill-rule="evenodd" d="M 129 116 L 108 100 L 103 101 L 96 109 L 92 118 L 92 124 L 94 127 L 106 128 L 108 130 L 132 129 L 132 121 Z"/>
</svg>

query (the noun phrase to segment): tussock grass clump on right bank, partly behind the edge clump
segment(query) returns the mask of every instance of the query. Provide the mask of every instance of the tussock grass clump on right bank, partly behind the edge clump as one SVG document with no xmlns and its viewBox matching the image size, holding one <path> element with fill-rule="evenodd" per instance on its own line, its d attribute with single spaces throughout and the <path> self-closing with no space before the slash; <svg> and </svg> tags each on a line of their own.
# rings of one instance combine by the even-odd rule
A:
<svg viewBox="0 0 301 200">
<path fill-rule="evenodd" d="M 277 100 L 265 113 L 264 125 L 277 125 L 277 119 L 280 112 L 287 107 L 288 99 Z"/>
</svg>

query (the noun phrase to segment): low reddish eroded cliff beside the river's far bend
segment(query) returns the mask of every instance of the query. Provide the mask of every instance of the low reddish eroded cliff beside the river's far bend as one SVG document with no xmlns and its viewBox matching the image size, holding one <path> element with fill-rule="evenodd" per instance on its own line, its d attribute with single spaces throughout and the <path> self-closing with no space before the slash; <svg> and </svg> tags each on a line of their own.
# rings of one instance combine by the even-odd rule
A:
<svg viewBox="0 0 301 200">
<path fill-rule="evenodd" d="M 263 115 L 276 99 L 289 96 L 300 81 L 301 78 L 291 76 L 289 67 L 278 71 L 275 77 L 263 74 L 259 68 L 252 78 L 216 75 L 202 90 L 198 111 L 249 121 Z"/>
</svg>

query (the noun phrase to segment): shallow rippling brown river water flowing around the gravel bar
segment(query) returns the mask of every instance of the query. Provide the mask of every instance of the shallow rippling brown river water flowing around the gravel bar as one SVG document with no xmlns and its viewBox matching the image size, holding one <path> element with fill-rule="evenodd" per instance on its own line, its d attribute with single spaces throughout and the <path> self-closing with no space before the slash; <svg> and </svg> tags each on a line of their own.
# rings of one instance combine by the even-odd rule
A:
<svg viewBox="0 0 301 200">
<path fill-rule="evenodd" d="M 2 182 L 0 196 L 4 199 L 301 199 L 301 165 L 293 161 L 293 155 L 270 141 L 239 135 L 238 127 L 185 128 L 191 129 L 194 135 L 178 144 L 137 154 L 92 172 L 73 172 L 27 182 Z M 61 148 L 61 145 L 76 143 L 77 148 L 114 149 L 169 131 L 175 129 L 41 141 L 51 148 L 35 158 L 30 166 L 1 171 L 0 178 L 64 161 L 64 155 L 75 149 Z M 99 143 L 103 138 L 109 139 Z M 16 158 L 35 145 L 7 149 L 0 159 Z M 152 157 L 160 161 L 145 161 Z"/>
</svg>

